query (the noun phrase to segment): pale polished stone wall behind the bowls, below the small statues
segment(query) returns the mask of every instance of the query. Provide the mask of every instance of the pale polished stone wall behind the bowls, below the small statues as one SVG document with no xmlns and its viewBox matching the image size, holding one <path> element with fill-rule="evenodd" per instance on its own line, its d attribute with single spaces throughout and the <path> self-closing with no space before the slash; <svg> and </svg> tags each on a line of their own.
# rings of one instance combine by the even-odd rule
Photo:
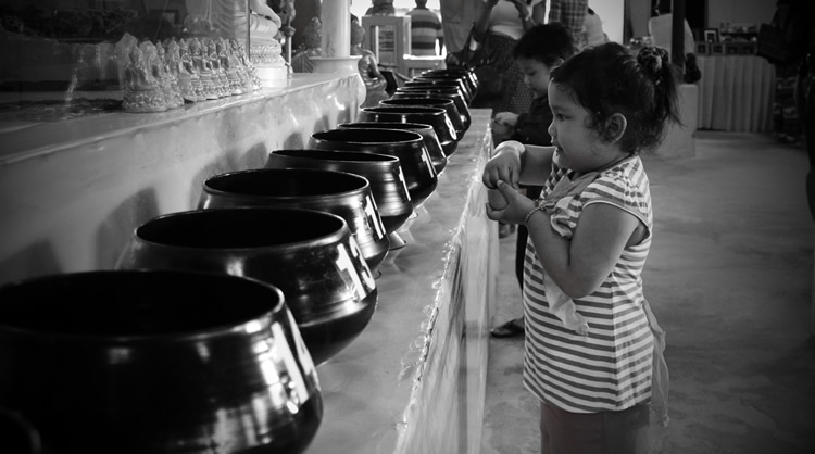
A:
<svg viewBox="0 0 815 454">
<path fill-rule="evenodd" d="M 356 118 L 359 77 L 296 75 L 286 88 L 26 125 L 0 144 L 0 283 L 113 268 L 146 220 L 195 209 L 203 181 L 262 167 L 271 150 Z"/>
</svg>

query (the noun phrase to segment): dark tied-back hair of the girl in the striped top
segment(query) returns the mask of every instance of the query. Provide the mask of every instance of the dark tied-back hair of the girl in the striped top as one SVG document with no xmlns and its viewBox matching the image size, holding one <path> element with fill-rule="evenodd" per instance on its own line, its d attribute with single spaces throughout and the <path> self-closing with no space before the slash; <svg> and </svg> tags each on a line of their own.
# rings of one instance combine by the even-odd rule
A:
<svg viewBox="0 0 815 454">
<path fill-rule="evenodd" d="M 626 117 L 619 144 L 636 153 L 657 146 L 667 122 L 679 121 L 677 70 L 668 52 L 648 46 L 635 56 L 617 42 L 587 48 L 552 71 L 552 84 L 567 89 L 574 100 L 591 112 L 590 128 L 609 140 L 607 119 Z"/>
</svg>

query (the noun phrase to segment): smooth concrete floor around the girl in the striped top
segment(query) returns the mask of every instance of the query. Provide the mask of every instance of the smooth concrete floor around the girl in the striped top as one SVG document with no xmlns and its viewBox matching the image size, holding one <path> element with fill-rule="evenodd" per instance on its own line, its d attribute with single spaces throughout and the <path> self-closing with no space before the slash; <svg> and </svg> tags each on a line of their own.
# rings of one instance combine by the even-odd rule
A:
<svg viewBox="0 0 815 454">
<path fill-rule="evenodd" d="M 802 147 L 700 131 L 697 155 L 645 156 L 655 236 L 645 295 L 667 331 L 667 428 L 653 453 L 815 453 L 813 228 Z M 521 314 L 515 238 L 501 240 L 492 325 Z M 491 339 L 484 454 L 538 453 L 523 339 Z"/>
</svg>

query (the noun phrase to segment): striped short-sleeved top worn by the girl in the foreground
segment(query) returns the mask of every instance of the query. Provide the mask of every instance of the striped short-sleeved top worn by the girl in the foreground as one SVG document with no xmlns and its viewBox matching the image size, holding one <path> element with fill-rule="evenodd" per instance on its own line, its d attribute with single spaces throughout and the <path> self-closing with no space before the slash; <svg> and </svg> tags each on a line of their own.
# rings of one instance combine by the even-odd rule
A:
<svg viewBox="0 0 815 454">
<path fill-rule="evenodd" d="M 557 182 L 553 168 L 542 198 Z M 573 413 L 622 411 L 651 400 L 654 336 L 645 314 L 641 273 L 651 245 L 653 213 L 648 176 L 639 156 L 603 171 L 563 216 L 572 232 L 584 207 L 609 203 L 639 218 L 645 239 L 626 248 L 612 273 L 593 293 L 574 299 L 589 324 L 580 336 L 549 312 L 543 268 L 532 242 L 524 264 L 526 341 L 524 384 L 544 403 Z"/>
</svg>

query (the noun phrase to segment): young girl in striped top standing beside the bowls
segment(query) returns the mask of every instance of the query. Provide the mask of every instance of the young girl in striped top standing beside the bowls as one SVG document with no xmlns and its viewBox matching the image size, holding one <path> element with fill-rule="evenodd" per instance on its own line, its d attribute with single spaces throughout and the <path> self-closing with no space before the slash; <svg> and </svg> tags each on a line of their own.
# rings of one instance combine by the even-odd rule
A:
<svg viewBox="0 0 815 454">
<path fill-rule="evenodd" d="M 653 216 L 639 152 L 678 122 L 674 71 L 655 47 L 584 50 L 552 71 L 554 147 L 503 142 L 484 172 L 505 204 L 487 216 L 529 230 L 524 383 L 548 454 L 644 453 L 649 404 L 667 423 L 664 333 L 641 279 Z M 516 191 L 536 181 L 537 202 Z"/>
</svg>

